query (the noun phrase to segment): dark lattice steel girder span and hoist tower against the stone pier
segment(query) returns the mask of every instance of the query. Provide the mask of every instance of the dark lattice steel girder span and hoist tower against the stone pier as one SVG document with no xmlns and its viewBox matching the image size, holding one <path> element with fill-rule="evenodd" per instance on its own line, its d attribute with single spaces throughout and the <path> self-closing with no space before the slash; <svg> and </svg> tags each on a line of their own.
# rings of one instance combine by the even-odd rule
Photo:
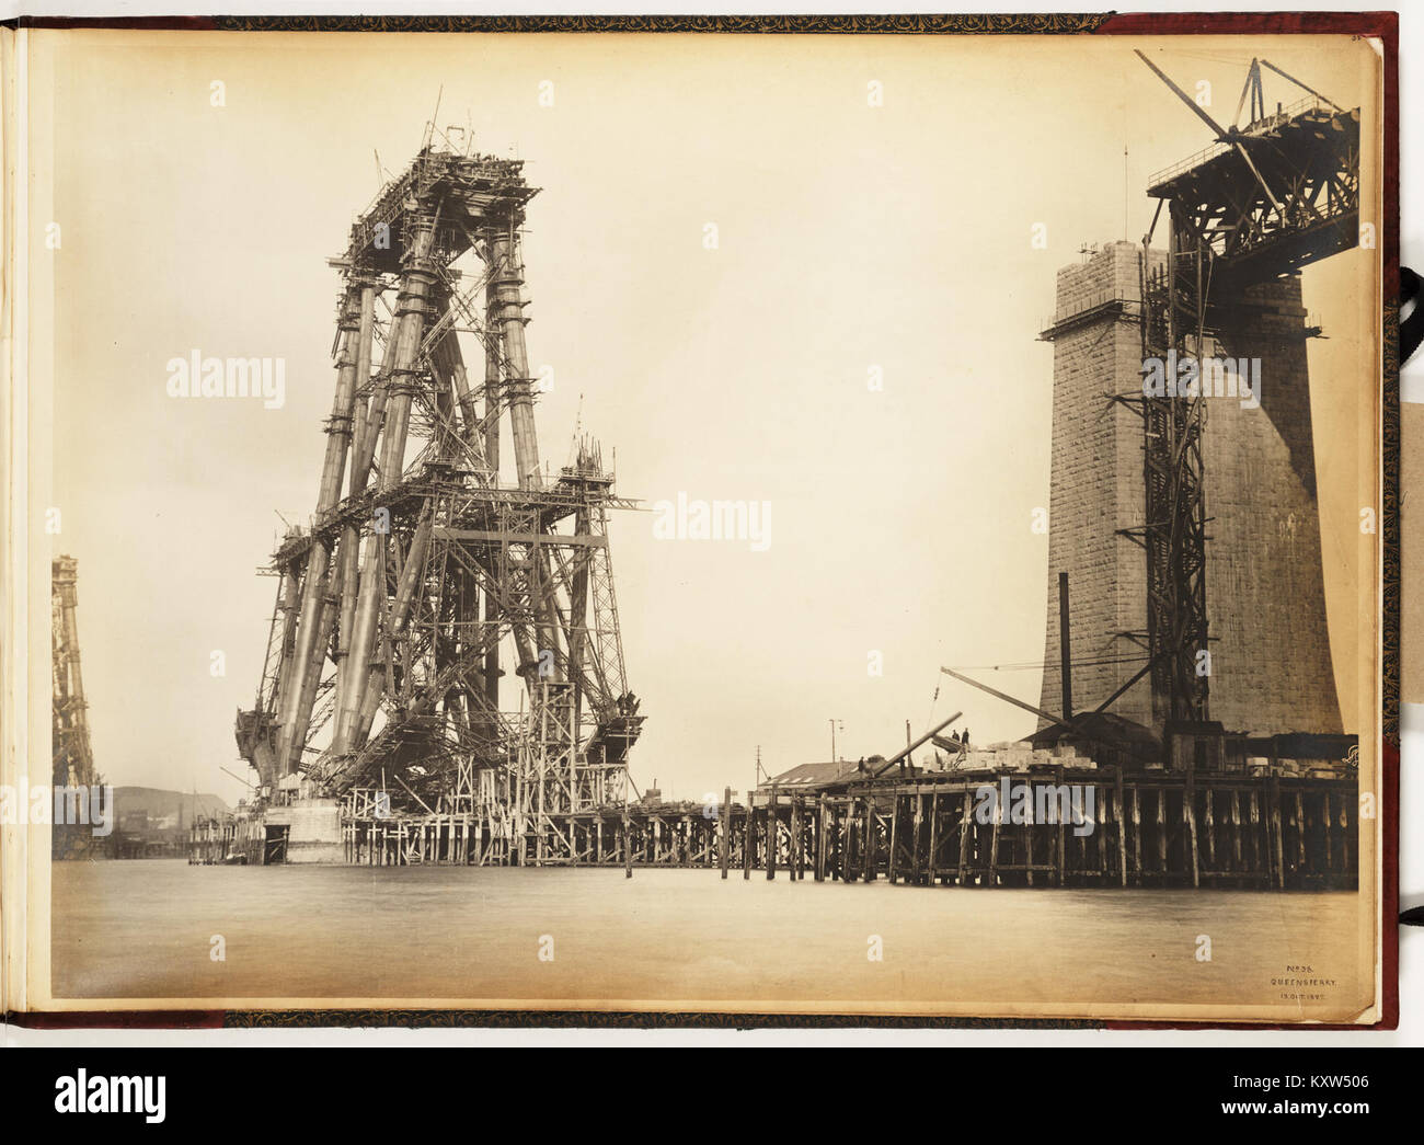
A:
<svg viewBox="0 0 1424 1145">
<path fill-rule="evenodd" d="M 1360 241 L 1360 110 L 1346 111 L 1266 60 L 1252 60 L 1236 117 L 1222 128 L 1146 56 L 1142 61 L 1215 134 L 1216 144 L 1152 177 L 1148 194 L 1168 206 L 1166 266 L 1142 251 L 1142 355 L 1166 360 L 1210 353 L 1218 312 L 1226 316 L 1253 283 L 1356 246 Z M 1266 111 L 1266 67 L 1307 98 Z M 1153 219 L 1153 228 L 1156 219 Z M 1145 363 L 1143 363 L 1145 365 Z M 1152 704 L 1161 721 L 1209 719 L 1205 396 L 1143 397 L 1146 550 Z"/>
</svg>

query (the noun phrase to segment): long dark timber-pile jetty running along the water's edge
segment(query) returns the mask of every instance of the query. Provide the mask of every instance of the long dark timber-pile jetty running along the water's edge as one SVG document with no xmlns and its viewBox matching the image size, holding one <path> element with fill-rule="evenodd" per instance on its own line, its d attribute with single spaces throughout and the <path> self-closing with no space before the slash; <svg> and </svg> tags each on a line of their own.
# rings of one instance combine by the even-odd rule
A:
<svg viewBox="0 0 1424 1145">
<path fill-rule="evenodd" d="M 347 863 L 375 866 L 538 862 L 961 887 L 1351 890 L 1358 880 L 1357 783 L 1346 775 L 1058 763 L 770 788 L 749 806 L 731 795 L 551 816 L 565 846 L 543 860 L 517 835 L 461 815 L 346 816 L 342 846 Z"/>
</svg>

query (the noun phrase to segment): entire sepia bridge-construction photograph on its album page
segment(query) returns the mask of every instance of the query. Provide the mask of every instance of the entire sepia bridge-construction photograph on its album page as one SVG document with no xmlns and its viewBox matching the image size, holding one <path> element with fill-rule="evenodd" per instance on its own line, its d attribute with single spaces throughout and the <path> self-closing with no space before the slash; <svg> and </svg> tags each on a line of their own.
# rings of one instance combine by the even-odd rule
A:
<svg viewBox="0 0 1424 1145">
<path fill-rule="evenodd" d="M 11 31 L 6 1008 L 1397 1021 L 1393 57 L 1012 19 Z"/>
</svg>

